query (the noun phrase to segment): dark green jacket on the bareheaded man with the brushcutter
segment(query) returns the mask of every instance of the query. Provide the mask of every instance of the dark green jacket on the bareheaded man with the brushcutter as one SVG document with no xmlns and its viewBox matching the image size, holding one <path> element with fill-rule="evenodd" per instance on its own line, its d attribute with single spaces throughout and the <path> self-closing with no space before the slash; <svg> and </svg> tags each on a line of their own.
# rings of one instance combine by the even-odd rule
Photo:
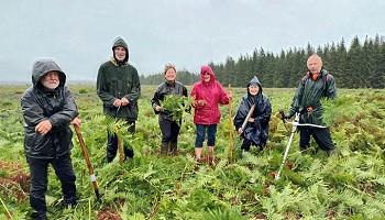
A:
<svg viewBox="0 0 385 220">
<path fill-rule="evenodd" d="M 300 123 L 324 125 L 320 103 L 323 97 L 337 98 L 334 77 L 324 69 L 320 72 L 316 80 L 308 76 L 301 78 L 287 116 L 292 118 L 296 112 L 300 112 Z"/>
</svg>

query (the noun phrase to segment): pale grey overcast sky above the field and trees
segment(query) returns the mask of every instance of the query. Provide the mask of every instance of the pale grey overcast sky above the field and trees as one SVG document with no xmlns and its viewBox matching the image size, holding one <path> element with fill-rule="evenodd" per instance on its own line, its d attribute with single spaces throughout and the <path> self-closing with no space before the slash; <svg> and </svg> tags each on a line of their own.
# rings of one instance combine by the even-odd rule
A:
<svg viewBox="0 0 385 220">
<path fill-rule="evenodd" d="M 385 35 L 384 0 L 0 0 L 0 81 L 30 81 L 37 58 L 96 80 L 123 36 L 140 75 L 165 63 L 198 73 L 254 48 L 323 46 Z"/>
</svg>

